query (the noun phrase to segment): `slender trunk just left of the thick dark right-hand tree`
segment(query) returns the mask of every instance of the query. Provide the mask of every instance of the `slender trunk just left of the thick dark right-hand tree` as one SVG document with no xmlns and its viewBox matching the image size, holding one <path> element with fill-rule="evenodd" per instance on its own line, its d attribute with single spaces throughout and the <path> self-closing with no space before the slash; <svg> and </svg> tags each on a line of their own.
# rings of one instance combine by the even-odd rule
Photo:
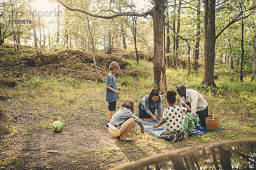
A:
<svg viewBox="0 0 256 170">
<path fill-rule="evenodd" d="M 195 71 L 198 71 L 198 59 L 199 59 L 199 45 L 200 45 L 200 0 L 198 0 L 197 4 L 197 24 L 196 24 L 196 40 L 195 40 L 195 63 L 194 63 L 194 69 Z"/>
</svg>

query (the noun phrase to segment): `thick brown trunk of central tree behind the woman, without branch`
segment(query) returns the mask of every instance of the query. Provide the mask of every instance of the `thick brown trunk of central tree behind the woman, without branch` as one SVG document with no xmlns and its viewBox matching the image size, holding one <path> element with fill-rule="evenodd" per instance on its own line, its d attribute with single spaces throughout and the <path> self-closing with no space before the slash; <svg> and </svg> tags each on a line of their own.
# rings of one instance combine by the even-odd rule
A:
<svg viewBox="0 0 256 170">
<path fill-rule="evenodd" d="M 164 46 L 164 0 L 154 0 L 152 11 L 154 26 L 154 86 L 159 91 L 166 91 L 166 68 Z"/>
</svg>

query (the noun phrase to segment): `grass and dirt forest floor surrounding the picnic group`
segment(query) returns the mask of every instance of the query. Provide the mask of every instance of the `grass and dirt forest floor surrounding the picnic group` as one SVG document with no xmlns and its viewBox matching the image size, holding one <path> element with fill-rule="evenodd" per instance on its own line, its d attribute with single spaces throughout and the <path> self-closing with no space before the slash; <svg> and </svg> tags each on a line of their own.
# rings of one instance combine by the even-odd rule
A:
<svg viewBox="0 0 256 170">
<path fill-rule="evenodd" d="M 166 68 L 166 79 L 168 90 L 185 84 L 200 91 L 226 130 L 172 143 L 133 128 L 128 136 L 134 141 L 122 142 L 105 129 L 108 65 L 113 60 L 121 65 L 116 74 L 121 88 L 116 108 L 131 98 L 138 115 L 140 99 L 153 87 L 151 62 L 96 54 L 102 79 L 98 82 L 91 54 L 61 51 L 47 64 L 26 66 L 33 49 L 24 47 L 22 59 L 15 59 L 11 49 L 0 49 L 5 54 L 0 55 L 0 80 L 16 82 L 15 87 L 0 86 L 0 169 L 103 170 L 183 147 L 256 137 L 256 82 L 249 77 L 240 82 L 235 72 L 225 71 L 222 65 L 215 65 L 215 73 L 222 73 L 216 80 L 218 90 L 201 86 L 202 68 L 191 75 L 183 68 Z M 165 101 L 162 107 L 167 107 Z M 60 133 L 51 129 L 55 120 L 64 124 Z"/>
</svg>

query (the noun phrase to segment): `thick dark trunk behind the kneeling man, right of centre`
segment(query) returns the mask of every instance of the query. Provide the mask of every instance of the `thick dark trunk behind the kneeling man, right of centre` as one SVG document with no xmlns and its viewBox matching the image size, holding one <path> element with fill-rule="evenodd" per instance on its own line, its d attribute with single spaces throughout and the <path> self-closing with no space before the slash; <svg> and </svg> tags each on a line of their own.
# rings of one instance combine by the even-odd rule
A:
<svg viewBox="0 0 256 170">
<path fill-rule="evenodd" d="M 204 2 L 204 79 L 203 85 L 214 83 L 214 61 L 215 61 L 215 0 L 205 0 Z"/>
</svg>

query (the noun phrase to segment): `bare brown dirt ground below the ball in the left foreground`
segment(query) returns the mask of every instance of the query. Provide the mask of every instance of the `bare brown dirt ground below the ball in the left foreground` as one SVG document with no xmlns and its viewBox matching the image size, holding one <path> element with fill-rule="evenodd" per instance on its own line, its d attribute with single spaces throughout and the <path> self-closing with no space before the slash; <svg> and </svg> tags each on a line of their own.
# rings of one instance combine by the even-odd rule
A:
<svg viewBox="0 0 256 170">
<path fill-rule="evenodd" d="M 15 104 L 9 104 L 15 108 Z M 121 142 L 113 138 L 105 129 L 104 121 L 98 117 L 105 115 L 103 112 L 91 109 L 84 111 L 92 115 L 86 119 L 78 115 L 67 117 L 63 121 L 64 129 L 55 133 L 50 127 L 38 128 L 37 124 L 42 119 L 47 119 L 31 114 L 39 108 L 41 107 L 38 105 L 10 110 L 16 115 L 17 131 L 0 137 L 0 158 L 3 160 L 0 167 L 100 170 L 135 161 L 138 159 L 137 154 L 142 157 L 150 156 L 145 150 L 133 145 L 133 142 Z M 48 110 L 54 109 L 45 108 L 44 114 Z"/>
</svg>

